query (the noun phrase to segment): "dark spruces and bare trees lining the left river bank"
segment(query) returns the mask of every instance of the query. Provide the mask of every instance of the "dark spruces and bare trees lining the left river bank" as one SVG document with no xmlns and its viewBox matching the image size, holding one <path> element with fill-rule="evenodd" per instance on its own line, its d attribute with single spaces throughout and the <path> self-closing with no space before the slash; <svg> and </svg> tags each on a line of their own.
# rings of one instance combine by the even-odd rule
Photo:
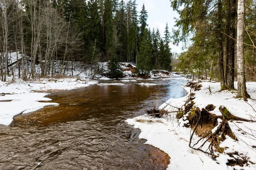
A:
<svg viewBox="0 0 256 170">
<path fill-rule="evenodd" d="M 145 6 L 137 10 L 136 0 L 0 0 L 1 80 L 15 70 L 23 79 L 64 75 L 67 62 L 73 68 L 73 62 L 110 61 L 114 70 L 133 62 L 142 75 L 171 71 L 168 24 L 161 37 L 148 27 Z"/>
</svg>

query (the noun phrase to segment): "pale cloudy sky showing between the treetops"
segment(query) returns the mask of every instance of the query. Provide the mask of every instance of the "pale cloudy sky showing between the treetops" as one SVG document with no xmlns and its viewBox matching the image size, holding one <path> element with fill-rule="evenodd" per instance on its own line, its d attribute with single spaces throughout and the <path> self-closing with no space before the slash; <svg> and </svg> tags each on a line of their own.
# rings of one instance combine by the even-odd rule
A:
<svg viewBox="0 0 256 170">
<path fill-rule="evenodd" d="M 141 8 L 145 4 L 145 9 L 148 11 L 148 26 L 151 28 L 158 28 L 163 36 L 166 27 L 166 22 L 169 26 L 169 31 L 172 34 L 172 28 L 174 28 L 174 17 L 178 18 L 179 15 L 176 11 L 173 11 L 170 0 L 137 0 L 137 11 L 140 12 Z M 140 14 L 140 13 L 138 13 Z M 172 52 L 181 53 L 181 45 L 176 46 L 170 43 Z"/>
</svg>

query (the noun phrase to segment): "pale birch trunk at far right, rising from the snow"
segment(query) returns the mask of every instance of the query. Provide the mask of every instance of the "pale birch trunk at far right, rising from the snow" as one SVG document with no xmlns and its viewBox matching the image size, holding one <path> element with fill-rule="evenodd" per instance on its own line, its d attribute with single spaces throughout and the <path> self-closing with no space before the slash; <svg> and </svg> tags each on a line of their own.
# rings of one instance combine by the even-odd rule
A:
<svg viewBox="0 0 256 170">
<path fill-rule="evenodd" d="M 237 83 L 238 90 L 236 98 L 247 100 L 249 95 L 246 91 L 246 80 L 244 74 L 244 18 L 245 18 L 245 2 L 238 0 L 237 7 Z"/>
</svg>

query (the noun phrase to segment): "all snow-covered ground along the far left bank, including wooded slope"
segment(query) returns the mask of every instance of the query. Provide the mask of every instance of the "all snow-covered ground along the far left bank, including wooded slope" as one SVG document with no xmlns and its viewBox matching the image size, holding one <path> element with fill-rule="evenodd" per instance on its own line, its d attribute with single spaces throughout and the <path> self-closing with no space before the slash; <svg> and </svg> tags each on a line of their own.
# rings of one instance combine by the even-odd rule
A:
<svg viewBox="0 0 256 170">
<path fill-rule="evenodd" d="M 18 54 L 18 56 L 17 56 Z M 64 77 L 55 80 L 50 78 L 52 71 L 52 63 L 50 63 L 50 71 L 48 78 L 39 79 L 36 77 L 36 81 L 28 80 L 27 82 L 18 79 L 18 68 L 15 68 L 15 63 L 17 59 L 21 59 L 20 52 L 9 53 L 9 67 L 10 73 L 12 70 L 15 71 L 15 81 L 12 82 L 12 76 L 7 77 L 7 82 L 0 82 L 0 125 L 9 125 L 12 122 L 14 116 L 20 113 L 29 113 L 32 111 L 37 111 L 46 106 L 58 105 L 58 103 L 50 102 L 51 99 L 45 97 L 47 93 L 37 93 L 37 91 L 58 91 L 58 90 L 70 90 L 73 88 L 86 87 L 88 85 L 98 84 L 97 81 L 90 80 L 102 79 L 108 80 L 109 78 L 103 76 L 108 72 L 108 62 L 99 62 L 99 72 L 94 73 L 94 69 L 91 65 L 84 65 L 82 62 L 65 62 L 64 63 Z M 25 56 L 26 57 L 26 56 Z M 62 62 L 54 61 L 54 75 L 58 75 L 61 69 Z M 120 63 L 125 79 L 122 82 L 136 82 L 132 76 L 136 74 L 132 73 L 135 71 L 135 65 L 129 62 Z M 24 65 L 26 67 L 26 64 Z M 13 69 L 15 68 L 15 69 Z M 31 63 L 28 62 L 28 68 L 30 70 Z M 20 71 L 22 74 L 22 71 Z M 35 66 L 36 75 L 41 73 L 41 68 L 39 65 Z M 168 71 L 154 71 L 151 72 L 152 77 L 170 77 L 171 75 L 166 75 Z M 47 77 L 46 76 L 46 77 Z M 21 75 L 22 77 L 22 75 Z M 101 83 L 98 85 L 124 85 L 123 83 Z M 150 83 L 140 83 L 140 85 L 155 85 Z M 44 102 L 39 102 L 44 101 Z"/>
</svg>

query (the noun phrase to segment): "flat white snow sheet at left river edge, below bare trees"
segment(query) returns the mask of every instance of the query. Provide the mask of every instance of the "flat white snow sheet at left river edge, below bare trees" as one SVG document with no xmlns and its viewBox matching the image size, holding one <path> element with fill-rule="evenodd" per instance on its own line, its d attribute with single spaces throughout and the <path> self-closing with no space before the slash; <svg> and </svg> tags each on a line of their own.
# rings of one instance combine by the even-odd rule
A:
<svg viewBox="0 0 256 170">
<path fill-rule="evenodd" d="M 16 79 L 11 82 L 12 77 L 7 77 L 9 81 L 0 82 L 0 125 L 10 125 L 13 117 L 18 114 L 25 114 L 37 111 L 47 106 L 58 106 L 58 103 L 50 102 L 47 93 L 39 91 L 70 90 L 74 88 L 87 87 L 97 84 L 97 81 L 86 79 L 84 81 L 75 78 L 65 79 L 41 79 L 40 81 L 24 82 Z M 38 92 L 37 92 L 38 91 Z M 44 101 L 44 102 L 39 102 Z"/>
</svg>

